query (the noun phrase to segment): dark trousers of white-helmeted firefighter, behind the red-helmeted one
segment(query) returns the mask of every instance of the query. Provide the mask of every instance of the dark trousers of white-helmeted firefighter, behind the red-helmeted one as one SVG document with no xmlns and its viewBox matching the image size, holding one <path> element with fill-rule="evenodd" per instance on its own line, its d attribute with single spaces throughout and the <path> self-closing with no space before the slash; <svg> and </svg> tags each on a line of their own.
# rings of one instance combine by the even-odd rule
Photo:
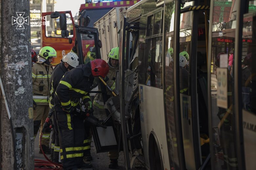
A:
<svg viewBox="0 0 256 170">
<path fill-rule="evenodd" d="M 53 133 L 52 133 L 52 143 L 51 143 L 51 160 L 53 162 L 59 162 L 59 130 L 58 124 L 56 120 L 56 111 L 53 112 L 52 115 L 53 120 Z"/>
</svg>

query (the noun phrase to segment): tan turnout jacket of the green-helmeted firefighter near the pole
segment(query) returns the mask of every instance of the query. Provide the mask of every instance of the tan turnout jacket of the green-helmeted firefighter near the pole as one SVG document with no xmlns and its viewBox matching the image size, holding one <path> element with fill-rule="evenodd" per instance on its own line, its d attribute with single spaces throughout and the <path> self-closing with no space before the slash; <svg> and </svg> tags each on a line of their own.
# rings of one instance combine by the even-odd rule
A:
<svg viewBox="0 0 256 170">
<path fill-rule="evenodd" d="M 49 105 L 50 78 L 53 72 L 52 65 L 35 63 L 32 67 L 33 100 L 37 105 Z"/>
</svg>

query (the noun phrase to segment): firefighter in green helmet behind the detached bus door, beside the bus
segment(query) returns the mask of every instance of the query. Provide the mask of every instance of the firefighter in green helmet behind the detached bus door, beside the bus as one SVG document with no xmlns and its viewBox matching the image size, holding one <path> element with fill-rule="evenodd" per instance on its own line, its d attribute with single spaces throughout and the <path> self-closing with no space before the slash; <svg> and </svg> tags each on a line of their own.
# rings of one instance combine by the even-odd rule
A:
<svg viewBox="0 0 256 170">
<path fill-rule="evenodd" d="M 107 83 L 107 85 L 114 90 L 116 88 L 116 71 L 119 68 L 119 47 L 112 48 L 108 54 L 108 65 L 109 65 L 109 73 L 104 78 L 104 81 Z M 100 86 L 98 86 L 99 91 Z M 110 96 L 111 92 L 106 89 L 107 95 Z M 94 101 L 93 101 L 93 108 L 94 108 L 94 116 L 97 117 L 100 120 L 104 120 L 107 118 L 106 111 L 104 109 L 104 102 L 103 97 L 101 93 L 97 93 L 95 95 Z M 115 123 L 113 120 L 113 123 L 115 125 L 115 128 L 118 128 L 118 123 Z M 110 158 L 110 164 L 109 168 L 117 168 L 117 159 L 119 157 L 118 150 L 109 152 L 109 158 Z"/>
</svg>

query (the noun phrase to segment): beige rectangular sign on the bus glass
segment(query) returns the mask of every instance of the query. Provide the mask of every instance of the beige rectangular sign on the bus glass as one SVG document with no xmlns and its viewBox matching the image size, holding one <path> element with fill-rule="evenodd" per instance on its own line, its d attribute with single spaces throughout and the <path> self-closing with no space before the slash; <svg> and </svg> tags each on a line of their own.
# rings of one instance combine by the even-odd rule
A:
<svg viewBox="0 0 256 170">
<path fill-rule="evenodd" d="M 217 106 L 227 109 L 227 68 L 217 68 Z"/>
</svg>

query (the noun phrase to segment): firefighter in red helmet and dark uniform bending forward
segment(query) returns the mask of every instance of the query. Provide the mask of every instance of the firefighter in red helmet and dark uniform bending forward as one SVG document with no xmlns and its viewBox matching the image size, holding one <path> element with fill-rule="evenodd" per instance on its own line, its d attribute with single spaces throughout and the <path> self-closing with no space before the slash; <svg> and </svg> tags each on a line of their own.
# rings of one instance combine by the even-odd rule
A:
<svg viewBox="0 0 256 170">
<path fill-rule="evenodd" d="M 74 108 L 84 105 L 91 110 L 92 102 L 89 91 L 94 77 L 105 77 L 109 66 L 102 59 L 95 59 L 87 64 L 78 65 L 65 73 L 57 86 L 54 103 L 59 129 L 60 158 L 64 169 L 78 170 L 92 167 L 91 163 L 83 161 L 84 123 L 81 117 L 75 115 Z M 82 101 L 80 101 L 82 98 Z"/>
</svg>

